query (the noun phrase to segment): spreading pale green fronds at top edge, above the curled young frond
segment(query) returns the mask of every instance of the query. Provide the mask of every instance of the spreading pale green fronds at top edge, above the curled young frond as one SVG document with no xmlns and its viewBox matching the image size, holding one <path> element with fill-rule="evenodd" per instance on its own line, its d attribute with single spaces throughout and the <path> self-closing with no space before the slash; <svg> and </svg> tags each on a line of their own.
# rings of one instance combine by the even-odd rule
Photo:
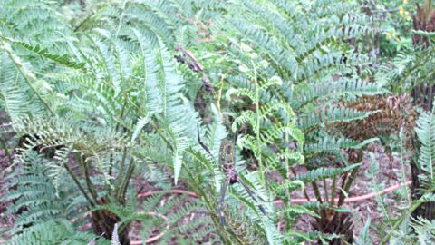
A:
<svg viewBox="0 0 435 245">
<path fill-rule="evenodd" d="M 372 20 L 358 14 L 358 5 L 348 5 L 328 18 L 316 11 L 316 5 L 324 5 L 322 1 L 312 5 L 304 1 L 237 1 L 234 5 L 234 15 L 219 27 L 267 54 L 285 80 L 299 83 L 332 70 L 353 69 L 349 64 L 370 63 L 368 56 L 353 54 L 352 48 L 343 43 L 375 31 L 367 27 Z"/>
</svg>

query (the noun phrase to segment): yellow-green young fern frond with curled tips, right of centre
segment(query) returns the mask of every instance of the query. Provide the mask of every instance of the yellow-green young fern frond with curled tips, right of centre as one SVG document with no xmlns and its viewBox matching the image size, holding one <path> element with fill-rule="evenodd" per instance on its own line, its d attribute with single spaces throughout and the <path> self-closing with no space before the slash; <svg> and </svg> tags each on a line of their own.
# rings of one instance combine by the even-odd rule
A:
<svg viewBox="0 0 435 245">
<path fill-rule="evenodd" d="M 292 107 L 278 96 L 273 96 L 269 91 L 276 92 L 283 82 L 278 76 L 260 80 L 256 72 L 256 64 L 240 64 L 241 69 L 247 72 L 248 79 L 252 81 L 250 87 L 230 89 L 227 96 L 232 94 L 239 98 L 246 98 L 252 110 L 245 110 L 237 116 L 232 124 L 233 132 L 246 128 L 250 133 L 242 134 L 237 139 L 237 145 L 242 145 L 253 152 L 254 162 L 262 173 L 262 181 L 266 171 L 275 169 L 282 161 L 289 167 L 289 162 L 304 162 L 301 154 L 304 144 L 304 133 L 296 126 L 295 113 Z M 250 67 L 251 69 L 249 69 Z M 292 151 L 285 147 L 295 143 Z M 266 153 L 270 146 L 278 146 L 276 154 Z"/>
</svg>

